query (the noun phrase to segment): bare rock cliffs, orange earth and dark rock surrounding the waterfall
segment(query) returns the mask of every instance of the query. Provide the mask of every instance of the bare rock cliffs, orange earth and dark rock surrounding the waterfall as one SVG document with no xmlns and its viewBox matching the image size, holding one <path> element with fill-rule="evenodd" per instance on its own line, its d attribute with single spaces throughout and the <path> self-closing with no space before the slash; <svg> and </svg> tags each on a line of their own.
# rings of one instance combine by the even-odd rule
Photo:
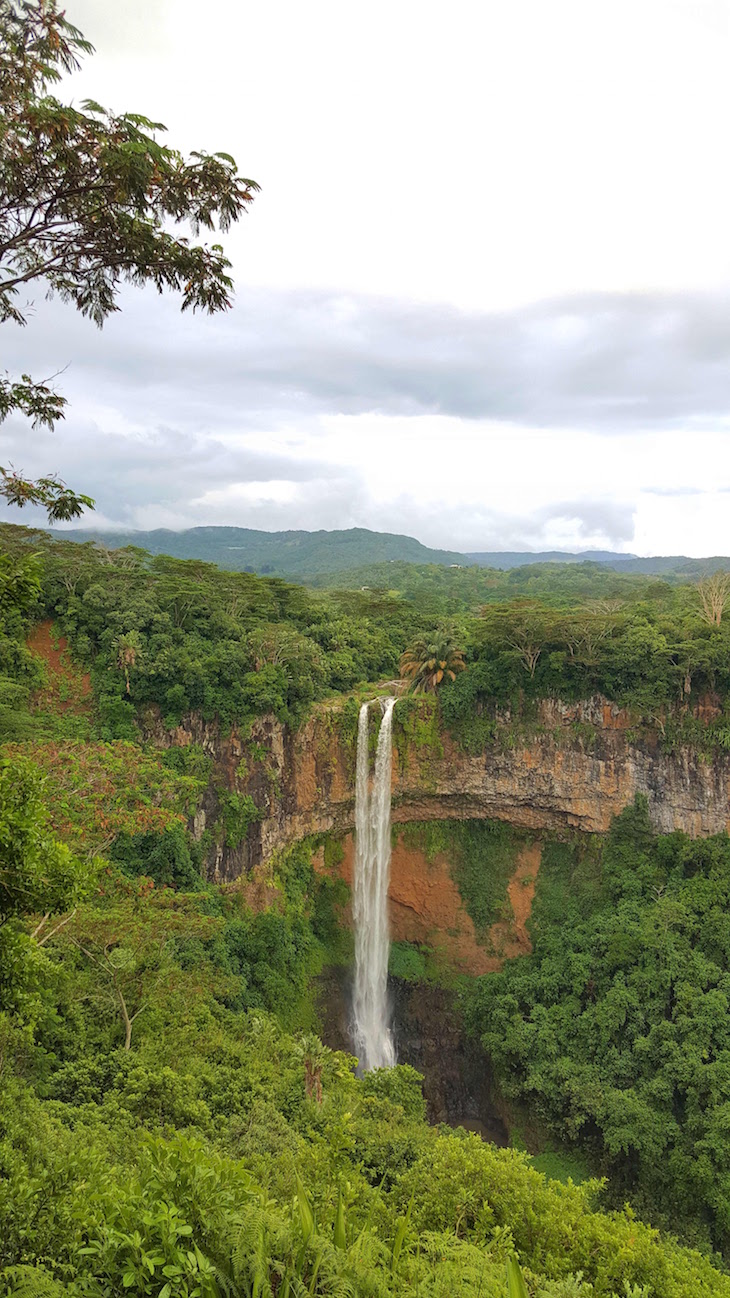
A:
<svg viewBox="0 0 730 1298">
<path fill-rule="evenodd" d="M 712 701 L 696 711 L 698 720 L 707 720 Z M 348 702 L 320 705 L 296 732 L 273 716 L 256 719 L 245 735 L 196 716 L 170 732 L 148 714 L 148 740 L 197 744 L 213 759 L 213 779 L 191 826 L 207 844 L 212 880 L 245 880 L 252 903 L 268 905 L 266 880 L 278 855 L 313 837 L 314 867 L 352 884 L 355 726 L 356 706 Z M 221 797 L 231 793 L 248 798 L 256 811 L 235 845 L 210 832 Z M 636 726 L 600 696 L 577 704 L 543 700 L 529 724 L 504 713 L 483 749 L 465 752 L 440 723 L 434 698 L 403 698 L 394 726 L 392 938 L 427 948 L 452 975 L 488 974 L 530 951 L 527 925 L 544 842 L 604 835 L 636 794 L 646 797 L 659 832 L 722 832 L 730 815 L 730 758 L 664 745 L 661 726 Z M 414 822 L 453 820 L 504 822 L 518 831 L 505 903 L 486 931 L 469 912 L 449 853 L 427 851 L 405 832 Z M 327 851 L 327 842 L 336 851 Z M 342 919 L 351 923 L 349 905 Z M 351 1045 L 348 979 L 347 971 L 333 971 L 321 986 L 323 1037 L 343 1049 Z M 505 1138 L 504 1111 L 495 1107 L 485 1060 L 475 1063 L 462 1038 L 452 993 L 394 979 L 391 996 L 399 1059 L 425 1075 L 431 1119 L 466 1121 L 492 1140 Z"/>
</svg>

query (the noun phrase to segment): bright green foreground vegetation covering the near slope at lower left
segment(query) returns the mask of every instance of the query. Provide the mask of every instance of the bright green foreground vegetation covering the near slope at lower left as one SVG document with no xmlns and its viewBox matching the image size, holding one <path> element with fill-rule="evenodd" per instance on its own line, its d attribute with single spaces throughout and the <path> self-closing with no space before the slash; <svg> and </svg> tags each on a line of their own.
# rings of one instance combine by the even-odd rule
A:
<svg viewBox="0 0 730 1298">
<path fill-rule="evenodd" d="M 0 1293 L 730 1294 L 709 1258 L 599 1211 L 599 1182 L 429 1128 L 417 1073 L 360 1080 L 297 1028 L 325 954 L 310 845 L 256 914 L 132 876 L 129 842 L 126 872 L 74 898 L 65 849 L 45 842 L 60 874 L 38 876 L 42 832 L 31 785 L 0 797 L 16 896 L 35 879 L 48 912 L 31 937 L 25 903 L 8 911 L 26 959 L 4 966 Z"/>
</svg>

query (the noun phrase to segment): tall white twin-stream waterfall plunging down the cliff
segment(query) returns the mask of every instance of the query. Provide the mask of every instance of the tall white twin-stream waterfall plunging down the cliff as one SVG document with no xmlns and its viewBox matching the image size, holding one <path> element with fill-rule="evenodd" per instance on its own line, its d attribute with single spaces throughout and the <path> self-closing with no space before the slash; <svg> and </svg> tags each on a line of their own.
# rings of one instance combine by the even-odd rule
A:
<svg viewBox="0 0 730 1298">
<path fill-rule="evenodd" d="M 391 750 L 395 698 L 386 701 L 373 792 L 368 788 L 368 704 L 357 720 L 355 784 L 355 1050 L 360 1067 L 391 1068 L 395 1045 L 390 1027 L 388 879 L 391 864 Z"/>
</svg>

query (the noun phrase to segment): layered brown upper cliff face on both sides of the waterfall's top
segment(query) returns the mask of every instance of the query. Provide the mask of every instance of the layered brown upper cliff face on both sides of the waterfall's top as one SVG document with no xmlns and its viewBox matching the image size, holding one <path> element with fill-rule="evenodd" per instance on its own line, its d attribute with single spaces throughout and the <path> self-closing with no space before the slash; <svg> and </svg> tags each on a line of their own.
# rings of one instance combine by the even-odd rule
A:
<svg viewBox="0 0 730 1298">
<path fill-rule="evenodd" d="M 636 735 L 629 715 L 604 698 L 546 700 L 525 737 L 505 719 L 478 755 L 438 731 L 430 701 L 416 714 L 408 706 L 412 724 L 400 733 L 396 707 L 395 823 L 490 818 L 534 831 L 596 833 L 643 793 L 661 832 L 701 837 L 729 827 L 730 757 L 708 762 L 688 748 L 664 753 L 659 735 Z M 294 735 L 271 716 L 258 718 L 245 737 L 199 718 L 170 735 L 151 716 L 147 737 L 164 746 L 201 744 L 214 758 L 197 836 L 214 824 L 216 787 L 249 794 L 260 809 L 239 846 L 210 849 L 214 879 L 234 880 L 309 833 L 353 828 L 355 735 L 339 705 L 320 706 Z"/>
</svg>

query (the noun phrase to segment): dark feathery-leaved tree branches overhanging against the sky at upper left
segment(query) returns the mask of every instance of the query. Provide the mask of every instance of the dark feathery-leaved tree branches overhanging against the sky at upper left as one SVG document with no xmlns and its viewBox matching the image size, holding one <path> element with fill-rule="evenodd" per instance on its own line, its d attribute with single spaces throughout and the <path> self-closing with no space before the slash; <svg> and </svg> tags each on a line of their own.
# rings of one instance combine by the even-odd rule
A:
<svg viewBox="0 0 730 1298">
<path fill-rule="evenodd" d="M 227 153 L 182 157 L 139 113 L 92 100 L 61 104 L 49 86 L 91 53 L 57 0 L 0 0 L 0 322 L 26 323 L 19 291 L 40 280 L 101 326 L 122 282 L 182 293 L 182 309 L 226 310 L 230 262 L 170 226 L 227 230 L 258 186 Z M 52 380 L 0 378 L 0 422 L 12 411 L 55 427 L 65 398 Z M 29 482 L 0 469 L 10 504 L 43 505 L 56 522 L 92 508 L 58 478 Z"/>
</svg>

